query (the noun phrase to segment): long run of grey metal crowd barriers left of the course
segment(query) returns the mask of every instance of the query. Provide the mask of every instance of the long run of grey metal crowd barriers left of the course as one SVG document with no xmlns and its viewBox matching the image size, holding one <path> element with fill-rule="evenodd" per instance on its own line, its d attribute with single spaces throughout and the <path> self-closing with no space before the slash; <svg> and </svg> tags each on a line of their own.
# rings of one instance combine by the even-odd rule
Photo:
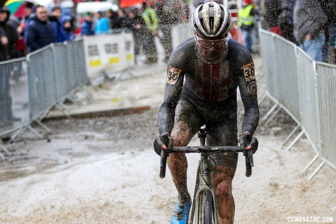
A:
<svg viewBox="0 0 336 224">
<path fill-rule="evenodd" d="M 88 83 L 83 40 L 50 44 L 25 58 L 0 62 L 0 136 L 16 131 L 9 142 L 41 120 L 54 106 L 63 102 Z M 0 149 L 10 152 L 0 144 Z M 0 153 L 0 158 L 4 155 Z"/>
</svg>

